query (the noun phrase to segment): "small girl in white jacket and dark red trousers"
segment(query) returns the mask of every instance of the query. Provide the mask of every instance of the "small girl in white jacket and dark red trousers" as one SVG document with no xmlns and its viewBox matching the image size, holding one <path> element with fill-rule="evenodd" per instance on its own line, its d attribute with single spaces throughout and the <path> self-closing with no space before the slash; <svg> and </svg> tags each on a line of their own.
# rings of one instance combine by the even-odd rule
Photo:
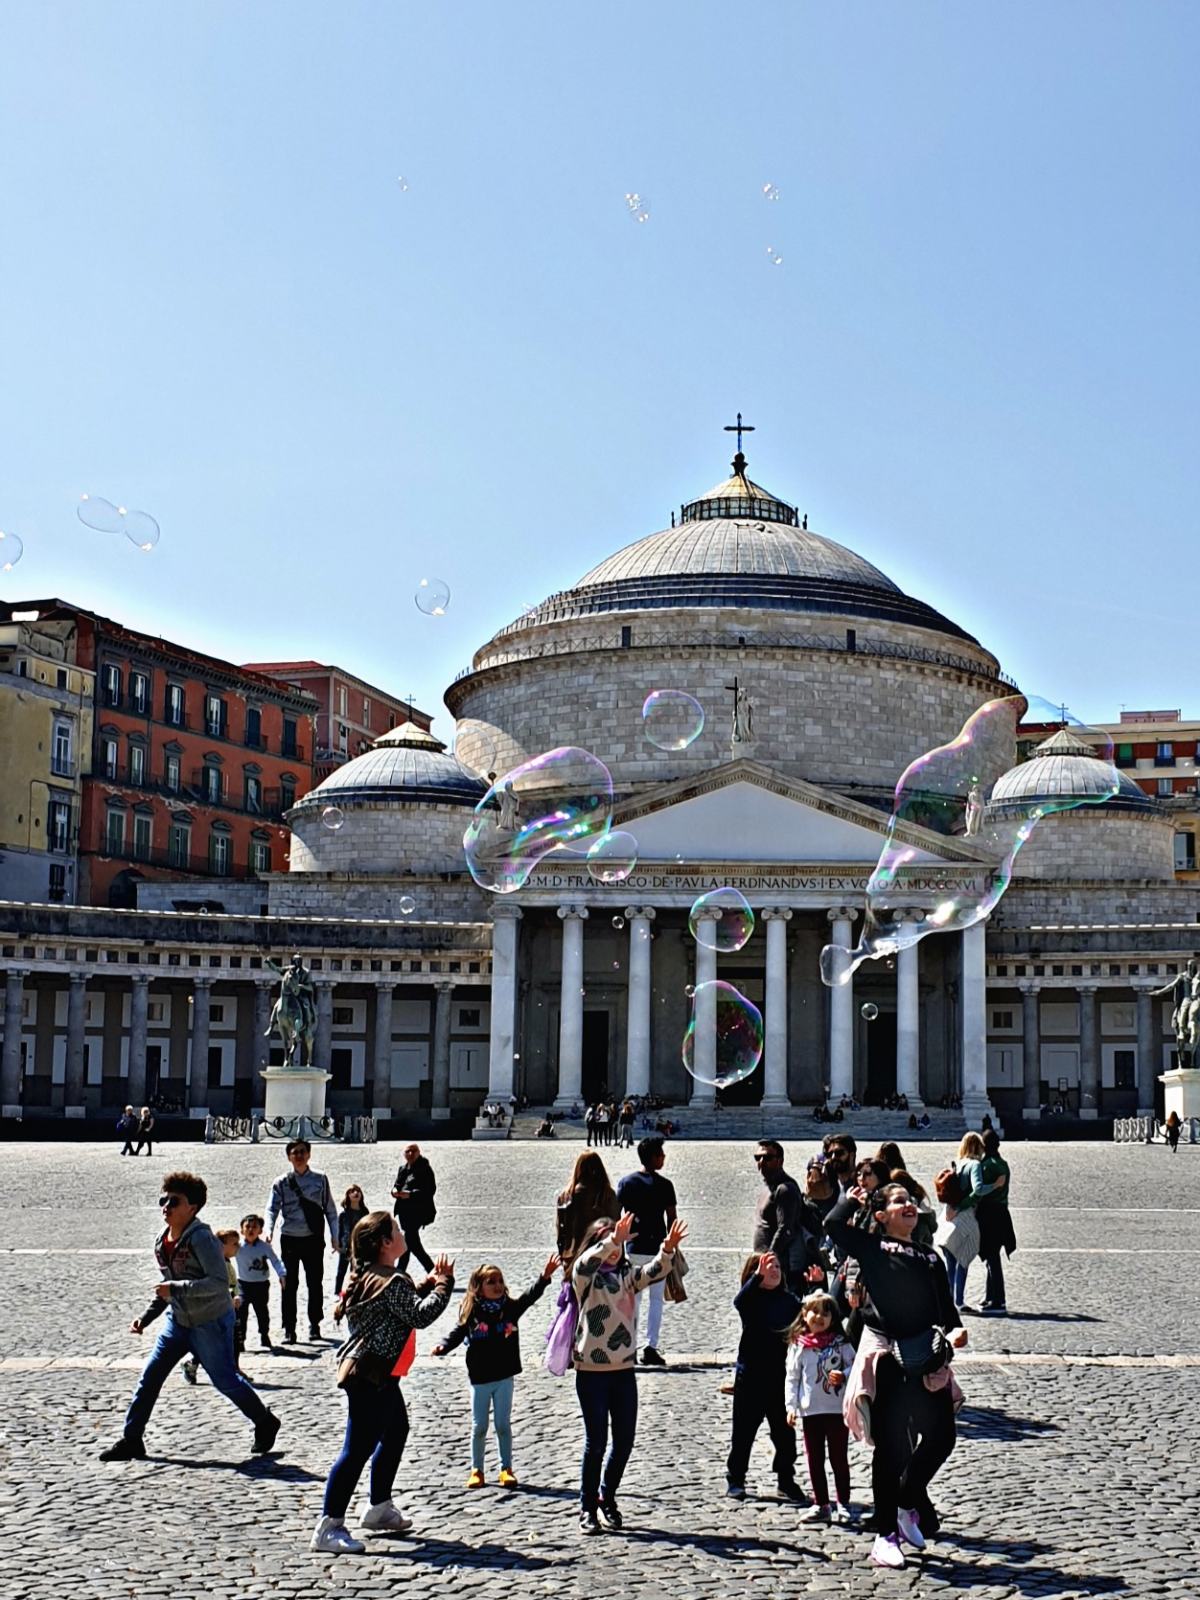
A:
<svg viewBox="0 0 1200 1600">
<path fill-rule="evenodd" d="M 853 1522 L 850 1509 L 850 1429 L 842 1419 L 842 1395 L 854 1365 L 853 1346 L 842 1331 L 837 1304 L 824 1291 L 806 1294 L 787 1330 L 787 1422 L 803 1424 L 805 1459 L 813 1485 L 808 1520 Z M 834 1469 L 837 1501 L 829 1499 L 826 1451 Z"/>
</svg>

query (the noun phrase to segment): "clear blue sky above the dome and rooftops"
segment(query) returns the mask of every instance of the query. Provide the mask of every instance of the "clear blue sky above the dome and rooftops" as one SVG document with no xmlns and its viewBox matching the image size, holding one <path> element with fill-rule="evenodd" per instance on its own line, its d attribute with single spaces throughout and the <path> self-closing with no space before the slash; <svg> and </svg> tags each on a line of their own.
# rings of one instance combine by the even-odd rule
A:
<svg viewBox="0 0 1200 1600">
<path fill-rule="evenodd" d="M 10 6 L 0 592 L 339 661 L 445 736 L 741 410 L 1024 688 L 1200 714 L 1198 61 L 1144 0 Z"/>
</svg>

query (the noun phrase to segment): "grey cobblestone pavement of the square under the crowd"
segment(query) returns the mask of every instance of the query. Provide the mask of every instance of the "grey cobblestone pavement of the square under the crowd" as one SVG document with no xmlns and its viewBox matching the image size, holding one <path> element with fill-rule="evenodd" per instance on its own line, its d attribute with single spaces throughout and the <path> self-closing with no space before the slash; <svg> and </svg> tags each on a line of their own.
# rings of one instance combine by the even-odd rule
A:
<svg viewBox="0 0 1200 1600">
<path fill-rule="evenodd" d="M 398 1149 L 322 1150 L 317 1165 L 334 1194 L 355 1181 L 368 1202 L 382 1203 Z M 525 1286 L 552 1246 L 552 1195 L 576 1152 L 440 1144 L 427 1154 L 438 1176 L 427 1243 L 458 1258 L 459 1282 L 494 1256 L 510 1285 Z M 920 1176 L 947 1154 L 917 1147 Z M 229 1226 L 264 1208 L 282 1155 L 168 1146 L 131 1160 L 115 1146 L 6 1146 L 0 1594 L 357 1600 L 442 1594 L 453 1582 L 454 1592 L 506 1600 L 602 1600 L 632 1584 L 672 1600 L 952 1589 L 976 1600 L 1195 1600 L 1200 1155 L 1102 1144 L 1008 1154 L 1021 1246 L 1008 1272 L 1014 1315 L 971 1322 L 971 1354 L 957 1368 L 966 1390 L 958 1448 L 934 1485 L 942 1538 L 904 1571 L 882 1573 L 866 1562 L 866 1533 L 813 1528 L 771 1498 L 766 1445 L 752 1461 L 758 1493 L 742 1504 L 722 1493 L 730 1400 L 718 1390 L 736 1344 L 731 1296 L 757 1194 L 749 1146 L 669 1149 L 667 1174 L 691 1224 L 690 1299 L 667 1309 L 669 1370 L 638 1374 L 626 1533 L 576 1534 L 581 1426 L 573 1384 L 539 1366 L 547 1294 L 522 1325 L 514 1411 L 522 1486 L 464 1488 L 470 1414 L 461 1357 L 422 1354 L 405 1381 L 413 1434 L 397 1488 L 414 1536 L 378 1539 L 366 1555 L 338 1560 L 307 1550 L 344 1418 L 333 1341 L 246 1357 L 248 1376 L 283 1419 L 275 1456 L 248 1454 L 246 1424 L 202 1376 L 197 1389 L 168 1382 L 146 1437 L 149 1461 L 96 1459 L 120 1430 L 144 1355 L 125 1330 L 155 1280 L 149 1242 L 162 1174 L 198 1170 L 211 1195 L 206 1219 Z M 605 1155 L 614 1174 L 635 1165 L 627 1152 Z M 981 1270 L 971 1269 L 968 1299 L 981 1298 Z M 421 1336 L 422 1352 L 434 1342 L 434 1331 Z M 866 1453 L 851 1466 L 864 1502 Z M 494 1478 L 491 1456 L 488 1472 Z"/>
</svg>

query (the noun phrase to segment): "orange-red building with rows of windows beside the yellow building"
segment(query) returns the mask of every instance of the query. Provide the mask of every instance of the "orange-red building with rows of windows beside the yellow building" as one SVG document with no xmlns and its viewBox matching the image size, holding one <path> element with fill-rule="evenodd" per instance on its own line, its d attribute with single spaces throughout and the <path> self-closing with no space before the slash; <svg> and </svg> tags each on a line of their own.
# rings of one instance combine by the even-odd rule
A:
<svg viewBox="0 0 1200 1600">
<path fill-rule="evenodd" d="M 62 600 L 0 606 L 75 624 L 96 674 L 78 901 L 134 906 L 136 885 L 286 870 L 283 814 L 314 786 L 314 698 Z"/>
</svg>

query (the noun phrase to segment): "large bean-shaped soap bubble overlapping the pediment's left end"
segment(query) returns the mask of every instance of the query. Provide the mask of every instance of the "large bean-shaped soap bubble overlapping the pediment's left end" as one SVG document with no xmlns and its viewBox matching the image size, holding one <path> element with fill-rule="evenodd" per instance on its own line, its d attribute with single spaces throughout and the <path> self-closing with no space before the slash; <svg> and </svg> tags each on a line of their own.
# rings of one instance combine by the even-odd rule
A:
<svg viewBox="0 0 1200 1600">
<path fill-rule="evenodd" d="M 611 826 L 608 768 L 589 750 L 562 746 L 496 779 L 475 806 L 462 850 L 480 888 L 512 894 L 542 856 L 570 843 L 589 843 L 590 854 Z"/>
</svg>

